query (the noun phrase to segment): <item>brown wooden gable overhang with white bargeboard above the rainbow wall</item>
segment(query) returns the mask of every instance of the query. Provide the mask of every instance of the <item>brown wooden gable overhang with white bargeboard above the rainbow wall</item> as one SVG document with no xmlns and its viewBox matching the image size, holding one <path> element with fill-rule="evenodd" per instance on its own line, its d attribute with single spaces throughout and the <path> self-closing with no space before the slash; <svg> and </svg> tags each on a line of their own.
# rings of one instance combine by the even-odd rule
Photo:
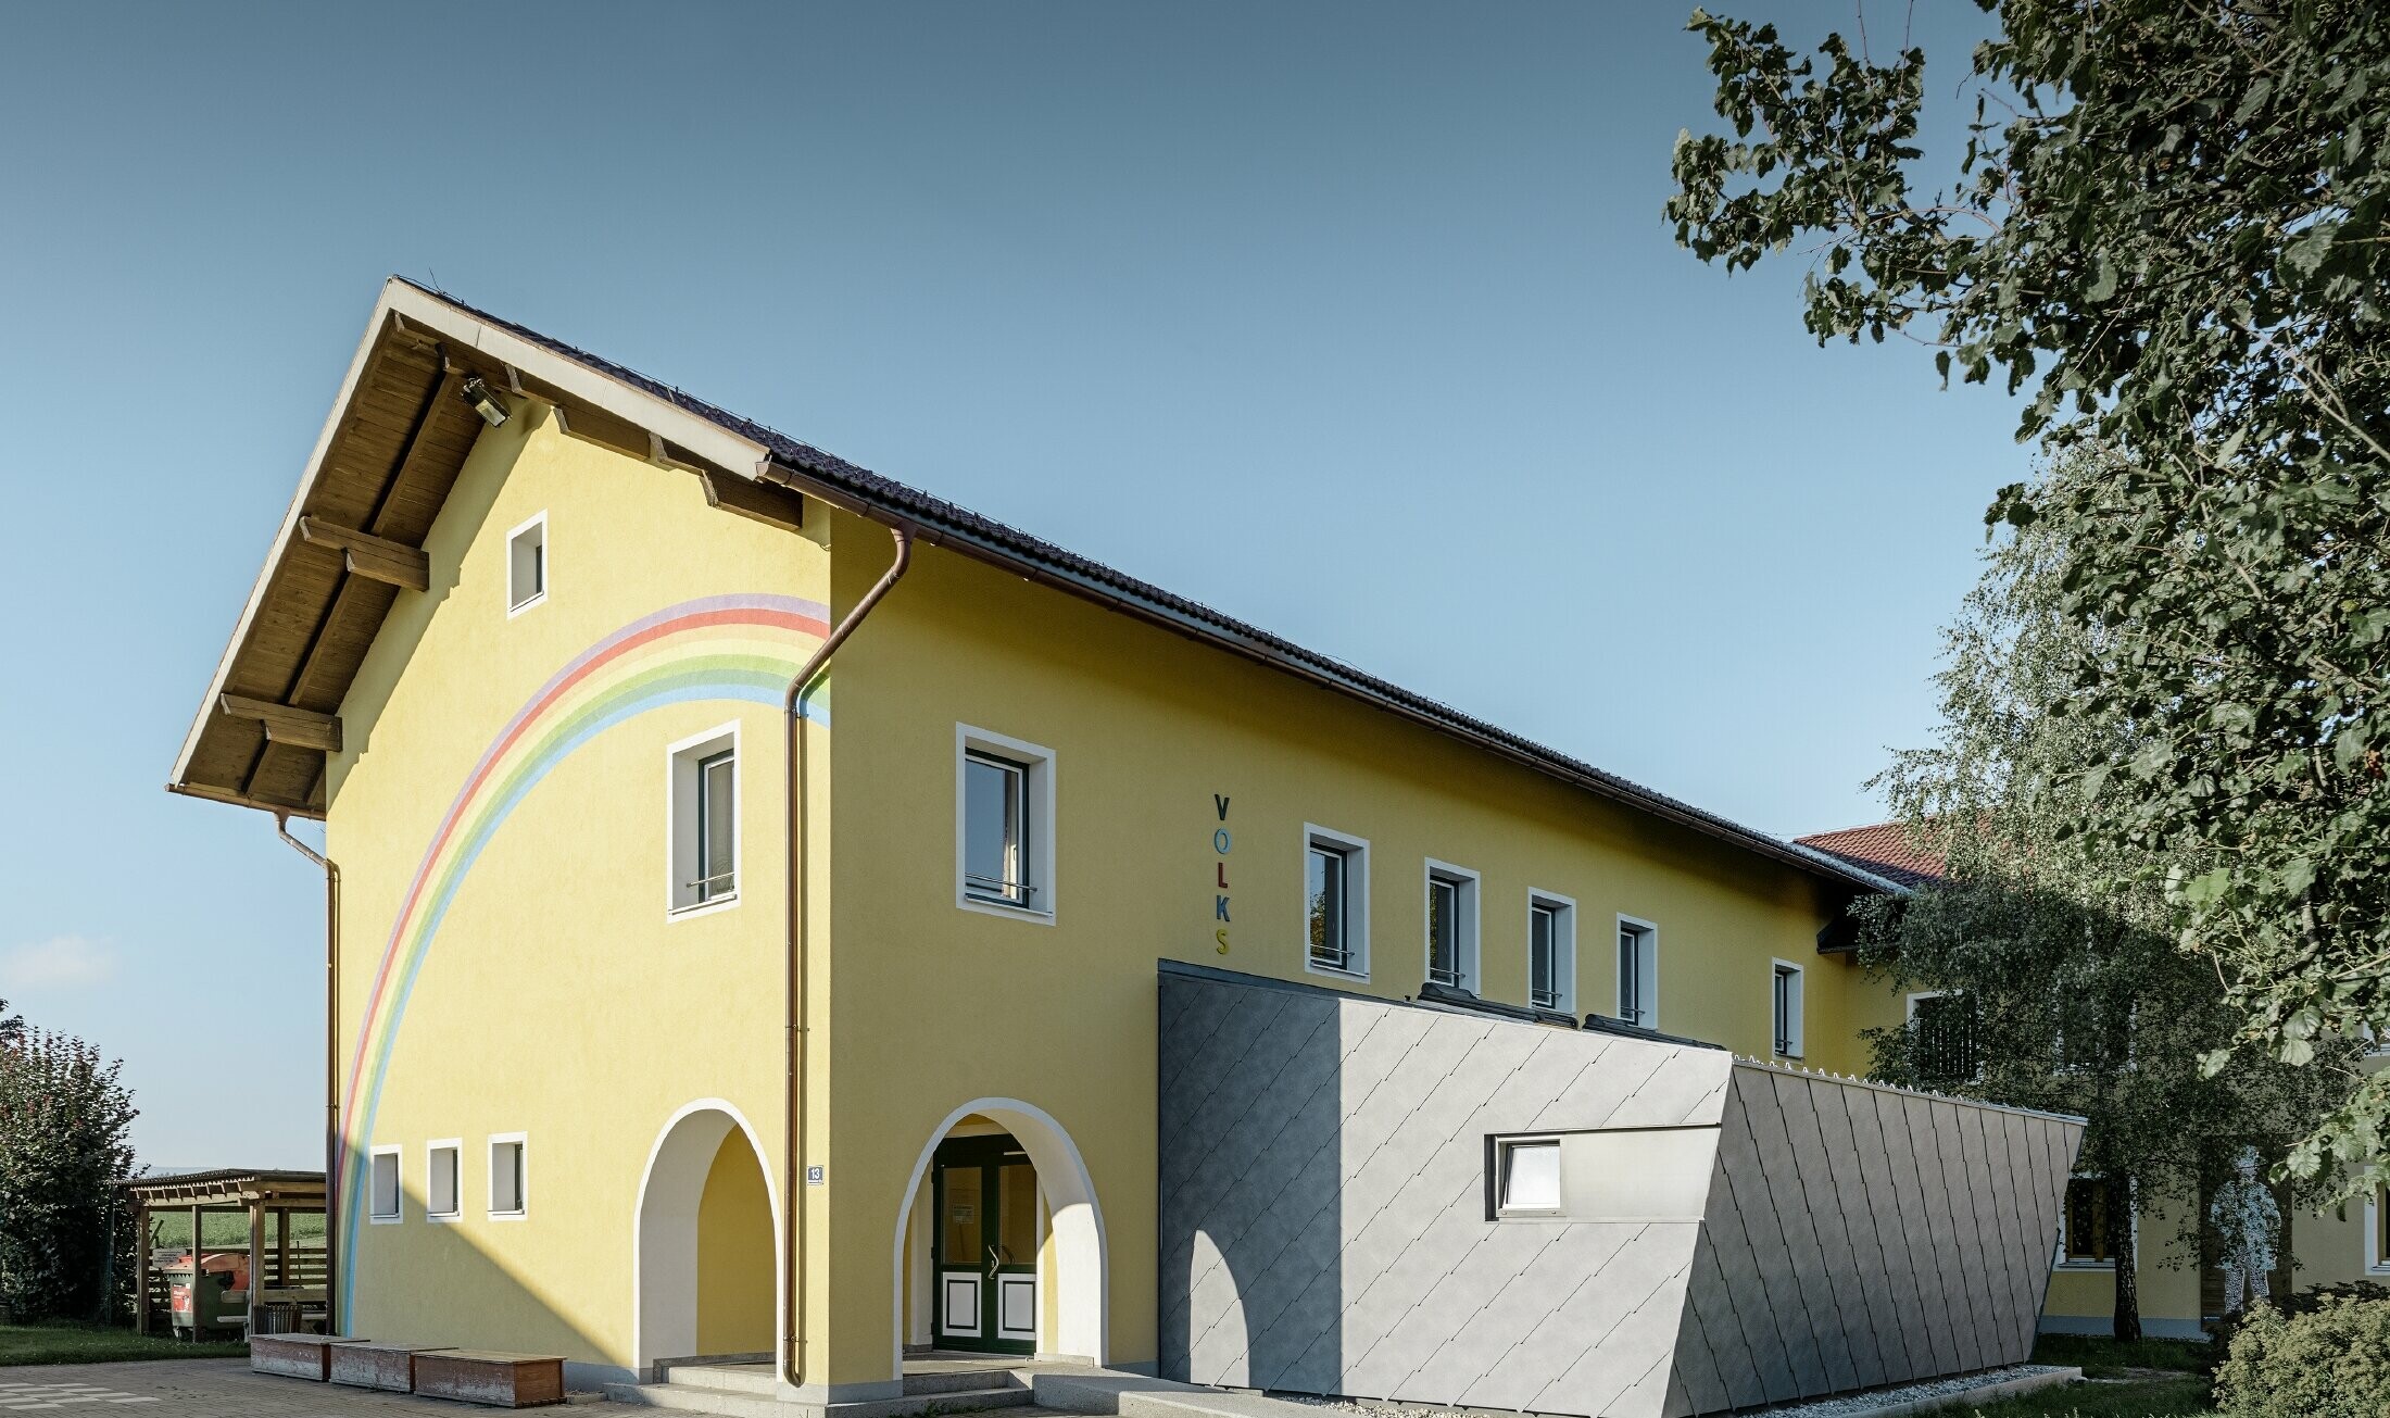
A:
<svg viewBox="0 0 2390 1418">
<path fill-rule="evenodd" d="M 798 526 L 798 495 L 755 481 L 762 445 L 390 280 L 170 791 L 323 815 L 325 756 L 339 753 L 339 705 L 373 636 L 399 593 L 440 583 L 423 538 L 485 428 L 464 397 L 471 378 L 514 414 L 540 402 L 574 438 L 698 473 L 715 507 Z"/>
</svg>

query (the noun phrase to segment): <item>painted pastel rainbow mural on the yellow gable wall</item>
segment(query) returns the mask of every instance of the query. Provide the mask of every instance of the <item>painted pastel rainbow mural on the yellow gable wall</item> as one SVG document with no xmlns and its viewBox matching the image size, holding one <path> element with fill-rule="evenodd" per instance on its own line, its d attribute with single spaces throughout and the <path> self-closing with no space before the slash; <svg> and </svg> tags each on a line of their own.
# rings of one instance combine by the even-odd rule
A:
<svg viewBox="0 0 2390 1418">
<path fill-rule="evenodd" d="M 406 1021 L 406 997 L 433 954 L 456 887 L 514 808 L 593 736 L 674 703 L 727 701 L 782 708 L 789 679 L 829 634 L 829 607 L 793 595 L 707 595 L 636 619 L 576 655 L 507 720 L 456 789 L 440 830 L 390 925 L 349 1059 L 342 1100 L 342 1155 L 332 1188 L 342 1198 L 342 1253 L 356 1255 L 370 1169 L 351 1153 L 373 1138 L 382 1078 Z M 827 725 L 827 686 L 805 703 Z M 363 1107 L 363 1112 L 358 1112 Z M 339 1270 L 339 1310 L 351 1313 L 356 1265 Z"/>
</svg>

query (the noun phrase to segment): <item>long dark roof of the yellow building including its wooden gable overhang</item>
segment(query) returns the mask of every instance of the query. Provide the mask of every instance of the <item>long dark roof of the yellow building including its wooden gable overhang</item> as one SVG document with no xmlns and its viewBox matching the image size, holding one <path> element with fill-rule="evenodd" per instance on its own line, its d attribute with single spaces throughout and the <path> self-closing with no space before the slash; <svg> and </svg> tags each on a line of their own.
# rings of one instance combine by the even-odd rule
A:
<svg viewBox="0 0 2390 1418">
<path fill-rule="evenodd" d="M 421 579 L 423 536 L 480 433 L 461 397 L 473 378 L 504 395 L 547 402 L 578 438 L 695 473 L 707 500 L 727 512 L 793 526 L 801 500 L 820 497 L 1816 878 L 1869 892 L 1900 890 L 1898 880 L 1857 861 L 1783 842 L 1601 772 L 402 277 L 382 285 L 167 789 L 272 813 L 323 815 L 323 760 L 339 748 L 339 701 L 397 591 Z"/>
</svg>

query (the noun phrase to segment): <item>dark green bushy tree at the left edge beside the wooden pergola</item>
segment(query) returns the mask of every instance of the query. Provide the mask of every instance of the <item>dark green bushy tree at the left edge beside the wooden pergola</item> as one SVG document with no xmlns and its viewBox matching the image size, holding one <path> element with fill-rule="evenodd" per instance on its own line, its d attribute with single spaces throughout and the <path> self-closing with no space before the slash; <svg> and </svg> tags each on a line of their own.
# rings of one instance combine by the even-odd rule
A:
<svg viewBox="0 0 2390 1418">
<path fill-rule="evenodd" d="M 136 1114 L 120 1069 L 41 1028 L 0 1050 L 0 1301 L 17 1315 L 81 1320 L 115 1303 L 103 1277 L 131 1234 L 115 1184 L 131 1174 Z"/>
</svg>

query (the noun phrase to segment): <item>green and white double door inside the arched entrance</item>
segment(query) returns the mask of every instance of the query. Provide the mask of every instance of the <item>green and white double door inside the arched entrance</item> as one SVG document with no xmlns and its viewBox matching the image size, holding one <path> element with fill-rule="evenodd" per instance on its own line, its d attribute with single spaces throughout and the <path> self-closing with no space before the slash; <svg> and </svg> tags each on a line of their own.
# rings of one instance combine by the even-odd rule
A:
<svg viewBox="0 0 2390 1418">
<path fill-rule="evenodd" d="M 951 1138 L 930 1162 L 939 1349 L 1037 1349 L 1037 1169 L 1011 1136 Z"/>
</svg>

